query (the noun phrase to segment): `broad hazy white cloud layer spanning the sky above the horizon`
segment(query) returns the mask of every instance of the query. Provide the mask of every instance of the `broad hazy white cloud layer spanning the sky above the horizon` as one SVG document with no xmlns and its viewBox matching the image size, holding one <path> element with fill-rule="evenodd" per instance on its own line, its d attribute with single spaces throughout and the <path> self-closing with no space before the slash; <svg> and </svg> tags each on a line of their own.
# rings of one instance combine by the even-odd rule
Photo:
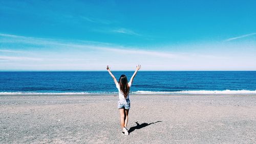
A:
<svg viewBox="0 0 256 144">
<path fill-rule="evenodd" d="M 234 46 L 245 47 L 244 44 L 230 43 L 167 46 L 165 49 L 155 47 L 146 50 L 145 47 L 140 49 L 111 43 L 8 34 L 0 34 L 0 38 L 0 50 L 6 52 L 3 53 L 4 56 L 0 56 L 0 70 L 104 70 L 106 65 L 111 65 L 113 70 L 131 70 L 137 64 L 141 64 L 143 70 L 253 70 L 253 67 L 255 70 L 256 67 L 254 43 L 249 46 L 252 49 L 246 49 L 246 52 L 240 48 L 234 50 Z M 8 44 L 11 46 L 8 47 Z M 31 45 L 35 48 L 31 48 Z M 189 51 L 187 47 L 195 51 Z M 225 47 L 228 50 L 224 50 Z M 172 49 L 176 52 L 172 52 Z M 182 53 L 182 49 L 186 51 Z M 18 53 L 19 51 L 24 53 Z"/>
</svg>

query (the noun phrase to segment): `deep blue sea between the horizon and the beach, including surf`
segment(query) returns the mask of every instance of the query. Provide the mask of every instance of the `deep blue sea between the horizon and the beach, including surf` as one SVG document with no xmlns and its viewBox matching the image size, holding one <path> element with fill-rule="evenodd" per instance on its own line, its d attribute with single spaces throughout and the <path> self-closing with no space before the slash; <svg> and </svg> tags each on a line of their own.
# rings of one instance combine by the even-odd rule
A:
<svg viewBox="0 0 256 144">
<path fill-rule="evenodd" d="M 112 71 L 130 80 L 134 71 Z M 0 94 L 117 93 L 108 71 L 2 71 Z M 256 71 L 138 71 L 135 94 L 256 93 Z"/>
</svg>

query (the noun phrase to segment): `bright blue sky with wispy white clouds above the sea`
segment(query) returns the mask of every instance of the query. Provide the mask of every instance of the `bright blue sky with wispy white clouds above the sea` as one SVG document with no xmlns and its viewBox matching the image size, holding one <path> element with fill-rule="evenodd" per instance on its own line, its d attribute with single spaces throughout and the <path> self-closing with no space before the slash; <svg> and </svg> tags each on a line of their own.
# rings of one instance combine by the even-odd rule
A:
<svg viewBox="0 0 256 144">
<path fill-rule="evenodd" d="M 0 0 L 0 70 L 256 70 L 255 6 Z"/>
</svg>

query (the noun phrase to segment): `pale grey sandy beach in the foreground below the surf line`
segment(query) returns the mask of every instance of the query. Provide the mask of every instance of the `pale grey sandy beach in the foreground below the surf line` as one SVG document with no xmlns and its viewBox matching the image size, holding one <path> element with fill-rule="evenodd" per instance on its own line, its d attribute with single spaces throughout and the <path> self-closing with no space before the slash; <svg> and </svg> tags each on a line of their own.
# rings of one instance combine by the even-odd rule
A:
<svg viewBox="0 0 256 144">
<path fill-rule="evenodd" d="M 256 143 L 256 95 L 1 95 L 0 143 Z"/>
</svg>

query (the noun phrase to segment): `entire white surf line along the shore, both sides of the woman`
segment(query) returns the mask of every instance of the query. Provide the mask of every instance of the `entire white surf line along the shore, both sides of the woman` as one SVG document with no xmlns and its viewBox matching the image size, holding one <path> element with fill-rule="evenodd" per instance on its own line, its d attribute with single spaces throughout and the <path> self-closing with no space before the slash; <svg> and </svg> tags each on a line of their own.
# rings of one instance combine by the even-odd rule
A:
<svg viewBox="0 0 256 144">
<path fill-rule="evenodd" d="M 75 94 L 118 94 L 118 92 L 0 92 L 0 95 L 18 94 L 54 94 L 54 95 L 75 95 Z M 256 94 L 256 90 L 182 90 L 182 91 L 132 91 L 131 94 Z"/>
</svg>

